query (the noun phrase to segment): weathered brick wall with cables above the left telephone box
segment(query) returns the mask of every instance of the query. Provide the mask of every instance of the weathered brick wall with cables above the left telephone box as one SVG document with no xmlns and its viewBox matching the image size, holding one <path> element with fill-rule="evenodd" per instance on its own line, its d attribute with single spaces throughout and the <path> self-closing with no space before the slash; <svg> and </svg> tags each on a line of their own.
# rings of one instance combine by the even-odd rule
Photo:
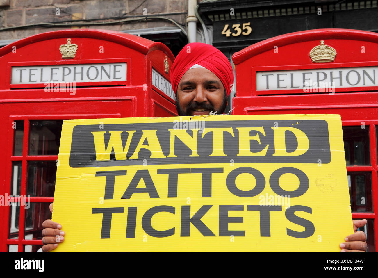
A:
<svg viewBox="0 0 378 278">
<path fill-rule="evenodd" d="M 172 14 L 184 12 L 184 14 Z M 186 25 L 187 0 L 0 0 L 0 40 L 22 39 L 46 31 L 96 28 L 107 30 L 133 30 L 161 26 L 175 26 L 167 20 L 135 21 L 129 17 L 122 23 L 89 25 L 93 22 L 112 22 L 127 16 L 163 16 Z M 169 14 L 169 15 L 161 15 Z M 118 18 L 118 19 L 115 19 Z M 88 20 L 85 26 L 72 20 Z M 125 19 L 124 19 L 125 20 Z M 39 23 L 64 23 L 65 26 L 40 26 Z M 12 28 L 32 25 L 27 28 Z M 2 28 L 8 28 L 1 30 Z"/>
</svg>

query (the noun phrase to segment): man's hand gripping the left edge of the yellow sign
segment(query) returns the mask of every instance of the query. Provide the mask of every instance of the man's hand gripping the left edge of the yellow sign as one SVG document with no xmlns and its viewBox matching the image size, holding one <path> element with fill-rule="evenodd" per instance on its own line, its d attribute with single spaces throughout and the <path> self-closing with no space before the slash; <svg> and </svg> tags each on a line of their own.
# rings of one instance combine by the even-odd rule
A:
<svg viewBox="0 0 378 278">
<path fill-rule="evenodd" d="M 50 211 L 53 213 L 53 204 L 50 204 Z M 51 221 L 51 219 L 47 219 L 43 221 L 42 227 L 42 251 L 48 252 L 56 247 L 58 247 L 58 243 L 64 241 L 65 232 L 61 231 L 62 225 Z"/>
</svg>

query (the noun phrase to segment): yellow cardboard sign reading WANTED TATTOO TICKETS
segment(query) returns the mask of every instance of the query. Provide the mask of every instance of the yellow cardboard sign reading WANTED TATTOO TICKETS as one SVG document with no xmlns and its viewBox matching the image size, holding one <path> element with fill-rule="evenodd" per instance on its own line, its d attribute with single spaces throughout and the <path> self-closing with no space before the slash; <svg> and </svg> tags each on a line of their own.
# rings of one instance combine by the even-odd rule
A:
<svg viewBox="0 0 378 278">
<path fill-rule="evenodd" d="M 57 251 L 340 251 L 339 115 L 63 122 Z"/>
</svg>

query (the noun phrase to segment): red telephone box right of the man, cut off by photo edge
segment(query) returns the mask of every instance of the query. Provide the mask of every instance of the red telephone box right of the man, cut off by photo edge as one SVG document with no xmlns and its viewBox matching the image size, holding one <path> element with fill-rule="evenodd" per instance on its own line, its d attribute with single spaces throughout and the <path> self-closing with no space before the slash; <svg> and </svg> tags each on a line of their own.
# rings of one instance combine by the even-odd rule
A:
<svg viewBox="0 0 378 278">
<path fill-rule="evenodd" d="M 378 34 L 318 29 L 235 53 L 234 114 L 340 114 L 353 219 L 378 240 Z M 330 223 L 332 229 L 332 223 Z"/>
</svg>

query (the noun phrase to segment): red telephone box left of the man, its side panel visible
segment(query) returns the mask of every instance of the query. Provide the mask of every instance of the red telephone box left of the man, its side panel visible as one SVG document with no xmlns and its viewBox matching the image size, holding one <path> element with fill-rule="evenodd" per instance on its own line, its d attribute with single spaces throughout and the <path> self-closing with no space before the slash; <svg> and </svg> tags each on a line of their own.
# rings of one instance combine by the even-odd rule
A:
<svg viewBox="0 0 378 278">
<path fill-rule="evenodd" d="M 173 61 L 162 43 L 108 30 L 47 32 L 0 49 L 0 251 L 42 245 L 62 121 L 177 115 Z"/>
</svg>

